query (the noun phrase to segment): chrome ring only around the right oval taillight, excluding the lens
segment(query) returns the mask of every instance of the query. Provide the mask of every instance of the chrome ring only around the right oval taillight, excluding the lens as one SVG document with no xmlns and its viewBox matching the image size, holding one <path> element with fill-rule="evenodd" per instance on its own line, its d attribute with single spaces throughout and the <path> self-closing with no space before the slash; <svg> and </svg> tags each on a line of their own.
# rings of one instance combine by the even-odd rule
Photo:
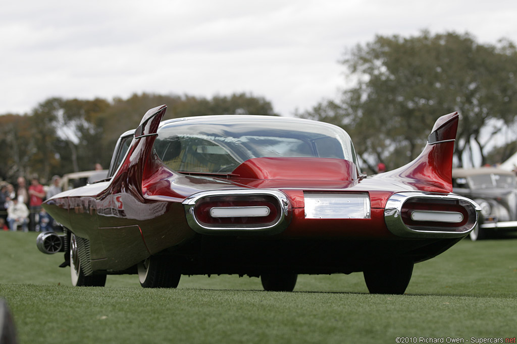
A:
<svg viewBox="0 0 517 344">
<path fill-rule="evenodd" d="M 415 230 L 413 228 L 408 227 L 402 220 L 401 212 L 404 203 L 412 198 L 428 198 L 428 199 L 436 199 L 436 200 L 458 200 L 462 203 L 466 203 L 474 208 L 476 221 L 474 224 L 466 228 L 461 232 L 456 231 L 430 231 L 430 230 Z M 425 192 L 400 192 L 394 193 L 388 199 L 384 209 L 384 221 L 388 230 L 397 235 L 399 237 L 409 237 L 409 238 L 460 238 L 466 236 L 473 228 L 477 225 L 479 211 L 481 211 L 481 207 L 474 201 L 459 196 L 457 194 L 448 193 L 448 194 L 433 194 L 433 193 L 425 193 Z"/>
</svg>

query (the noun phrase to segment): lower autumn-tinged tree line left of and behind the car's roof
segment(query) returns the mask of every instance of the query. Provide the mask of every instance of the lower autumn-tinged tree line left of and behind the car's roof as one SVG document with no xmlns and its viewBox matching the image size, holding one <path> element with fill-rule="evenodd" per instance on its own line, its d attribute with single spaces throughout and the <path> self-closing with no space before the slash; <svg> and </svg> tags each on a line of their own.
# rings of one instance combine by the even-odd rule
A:
<svg viewBox="0 0 517 344">
<path fill-rule="evenodd" d="M 144 113 L 168 105 L 164 119 L 207 114 L 277 115 L 271 103 L 252 94 L 190 95 L 133 94 L 112 101 L 52 97 L 28 114 L 0 116 L 0 180 L 38 174 L 52 175 L 108 168 L 116 140 L 134 129 Z"/>
</svg>

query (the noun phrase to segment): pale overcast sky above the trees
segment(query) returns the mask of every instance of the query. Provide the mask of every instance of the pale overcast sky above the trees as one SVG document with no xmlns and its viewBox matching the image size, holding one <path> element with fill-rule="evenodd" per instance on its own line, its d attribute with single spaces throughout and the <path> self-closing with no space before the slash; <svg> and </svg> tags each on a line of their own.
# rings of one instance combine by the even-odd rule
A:
<svg viewBox="0 0 517 344">
<path fill-rule="evenodd" d="M 283 116 L 335 97 L 376 34 L 517 42 L 515 1 L 0 0 L 0 114 L 51 96 L 263 96 Z M 157 104 L 159 105 L 159 104 Z"/>
</svg>

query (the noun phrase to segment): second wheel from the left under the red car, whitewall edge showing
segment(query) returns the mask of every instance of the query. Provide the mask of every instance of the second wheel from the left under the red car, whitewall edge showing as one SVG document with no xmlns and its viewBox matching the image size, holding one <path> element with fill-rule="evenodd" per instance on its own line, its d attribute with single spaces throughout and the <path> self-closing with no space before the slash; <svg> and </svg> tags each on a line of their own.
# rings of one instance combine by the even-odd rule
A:
<svg viewBox="0 0 517 344">
<path fill-rule="evenodd" d="M 138 264 L 138 279 L 144 288 L 176 288 L 181 273 L 163 256 L 150 256 Z"/>
</svg>

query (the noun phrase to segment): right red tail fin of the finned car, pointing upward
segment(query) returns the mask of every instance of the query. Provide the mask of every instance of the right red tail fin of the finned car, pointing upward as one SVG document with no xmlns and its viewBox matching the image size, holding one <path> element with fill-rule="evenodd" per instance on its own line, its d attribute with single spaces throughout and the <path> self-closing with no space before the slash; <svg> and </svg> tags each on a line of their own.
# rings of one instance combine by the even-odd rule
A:
<svg viewBox="0 0 517 344">
<path fill-rule="evenodd" d="M 403 178 L 423 191 L 451 192 L 452 154 L 458 121 L 458 112 L 438 118 L 422 153 L 407 165 L 379 177 Z"/>
</svg>

